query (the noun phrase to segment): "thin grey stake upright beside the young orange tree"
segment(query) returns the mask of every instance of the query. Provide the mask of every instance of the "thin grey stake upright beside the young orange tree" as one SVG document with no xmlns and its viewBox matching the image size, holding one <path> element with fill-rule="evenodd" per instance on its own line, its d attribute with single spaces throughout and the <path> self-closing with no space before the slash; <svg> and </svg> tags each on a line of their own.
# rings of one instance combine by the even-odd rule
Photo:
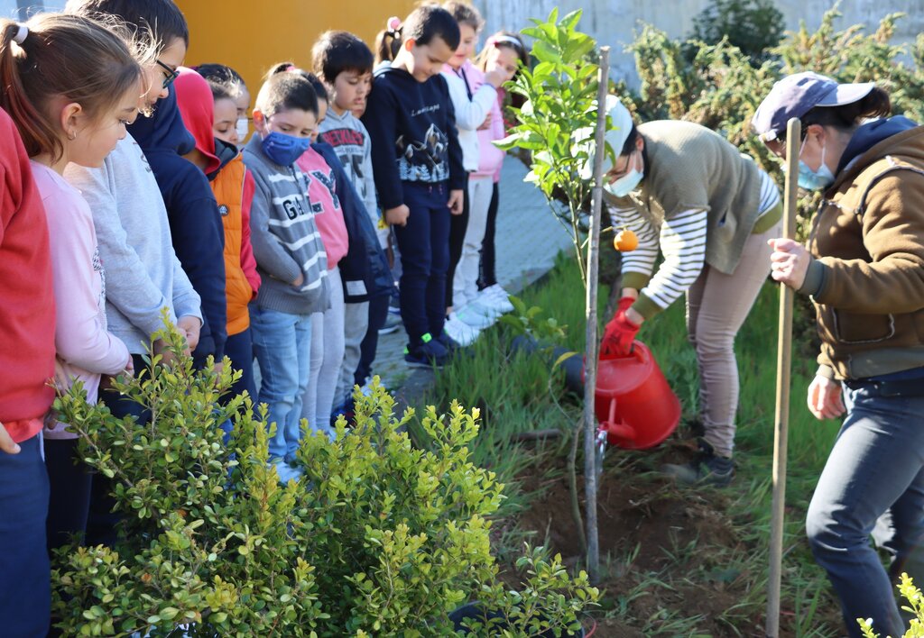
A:
<svg viewBox="0 0 924 638">
<path fill-rule="evenodd" d="M 603 152 L 606 133 L 606 95 L 610 75 L 610 47 L 600 49 L 597 90 L 597 152 L 593 161 L 593 199 L 590 210 L 590 242 L 587 253 L 587 370 L 584 381 L 584 494 L 587 512 L 587 567 L 590 581 L 600 578 L 600 538 L 597 534 L 597 417 L 594 396 L 597 389 L 597 279 L 600 275 L 600 217 L 603 204 Z M 618 149 L 616 150 L 618 152 Z"/>
</svg>

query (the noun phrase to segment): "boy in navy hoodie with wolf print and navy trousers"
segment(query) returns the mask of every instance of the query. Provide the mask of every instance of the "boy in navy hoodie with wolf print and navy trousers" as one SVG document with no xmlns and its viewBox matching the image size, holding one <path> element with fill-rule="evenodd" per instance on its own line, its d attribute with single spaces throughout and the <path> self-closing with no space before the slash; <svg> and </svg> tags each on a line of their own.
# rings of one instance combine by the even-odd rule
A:
<svg viewBox="0 0 924 638">
<path fill-rule="evenodd" d="M 459 43 L 448 11 L 419 6 L 404 26 L 382 38 L 390 66 L 379 69 L 363 124 L 372 139 L 372 168 L 386 223 L 401 250 L 401 317 L 410 366 L 444 364 L 449 217 L 462 213 L 465 169 L 443 65 Z"/>
</svg>

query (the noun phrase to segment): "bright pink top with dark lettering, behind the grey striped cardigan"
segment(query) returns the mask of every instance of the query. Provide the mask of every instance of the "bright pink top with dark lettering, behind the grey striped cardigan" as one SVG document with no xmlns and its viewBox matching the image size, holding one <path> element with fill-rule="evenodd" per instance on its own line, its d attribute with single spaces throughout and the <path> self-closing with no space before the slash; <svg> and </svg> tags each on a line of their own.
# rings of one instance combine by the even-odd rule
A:
<svg viewBox="0 0 924 638">
<path fill-rule="evenodd" d="M 302 153 L 296 164 L 308 179 L 308 201 L 327 253 L 327 270 L 333 271 L 349 250 L 344 212 L 334 192 L 334 171 L 322 154 L 314 149 Z"/>
</svg>

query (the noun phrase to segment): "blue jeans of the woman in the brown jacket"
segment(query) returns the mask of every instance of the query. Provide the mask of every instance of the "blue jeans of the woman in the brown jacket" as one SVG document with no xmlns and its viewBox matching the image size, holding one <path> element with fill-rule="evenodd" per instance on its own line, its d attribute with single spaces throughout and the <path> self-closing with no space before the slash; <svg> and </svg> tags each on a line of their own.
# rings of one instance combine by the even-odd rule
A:
<svg viewBox="0 0 924 638">
<path fill-rule="evenodd" d="M 908 572 L 924 584 L 924 396 L 851 385 L 844 425 L 808 505 L 806 531 L 849 634 L 861 635 L 857 618 L 871 618 L 877 633 L 897 636 L 905 630 L 894 582 Z M 889 572 L 870 547 L 870 534 L 891 555 Z"/>
</svg>

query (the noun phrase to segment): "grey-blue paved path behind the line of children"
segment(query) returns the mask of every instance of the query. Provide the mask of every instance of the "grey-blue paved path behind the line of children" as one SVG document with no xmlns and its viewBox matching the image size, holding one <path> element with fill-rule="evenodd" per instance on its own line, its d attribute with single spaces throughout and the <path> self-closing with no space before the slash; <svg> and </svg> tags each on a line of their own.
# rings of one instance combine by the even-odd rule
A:
<svg viewBox="0 0 924 638">
<path fill-rule="evenodd" d="M 559 251 L 572 249 L 565 228 L 553 217 L 539 188 L 523 181 L 527 173 L 516 158 L 505 159 L 497 211 L 497 279 L 514 294 L 549 271 Z M 382 377 L 386 388 L 398 388 L 408 378 L 406 340 L 404 330 L 379 340 L 372 373 Z"/>
</svg>

